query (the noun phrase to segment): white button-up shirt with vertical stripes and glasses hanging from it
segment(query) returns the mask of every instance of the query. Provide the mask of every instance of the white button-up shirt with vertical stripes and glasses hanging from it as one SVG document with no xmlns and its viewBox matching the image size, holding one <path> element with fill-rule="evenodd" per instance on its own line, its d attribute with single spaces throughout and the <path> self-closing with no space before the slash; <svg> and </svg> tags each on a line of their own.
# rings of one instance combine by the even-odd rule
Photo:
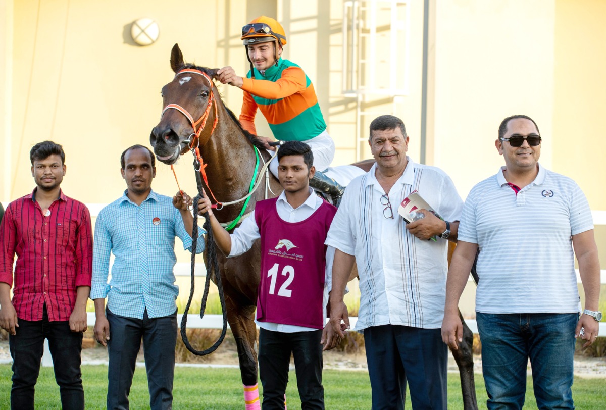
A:
<svg viewBox="0 0 606 410">
<path fill-rule="evenodd" d="M 398 207 L 417 190 L 452 221 L 459 220 L 463 201 L 444 171 L 407 159 L 404 173 L 389 192 L 393 219 L 383 214 L 385 191 L 376 180 L 374 165 L 347 186 L 328 231 L 325 243 L 354 255 L 358 263 L 357 330 L 390 323 L 425 329 L 442 325 L 448 241 L 420 240 L 408 233 Z"/>
</svg>

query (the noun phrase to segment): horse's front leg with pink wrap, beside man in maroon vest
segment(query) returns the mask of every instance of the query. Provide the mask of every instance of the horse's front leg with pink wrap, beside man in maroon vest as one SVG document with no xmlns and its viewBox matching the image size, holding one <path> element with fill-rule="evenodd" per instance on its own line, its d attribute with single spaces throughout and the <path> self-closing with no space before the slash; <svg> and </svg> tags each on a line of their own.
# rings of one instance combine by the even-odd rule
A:
<svg viewBox="0 0 606 410">
<path fill-rule="evenodd" d="M 230 297 L 225 297 L 227 317 L 231 332 L 238 348 L 240 374 L 244 385 L 246 410 L 261 409 L 257 378 L 257 328 L 255 325 L 255 306 L 237 306 Z"/>
</svg>

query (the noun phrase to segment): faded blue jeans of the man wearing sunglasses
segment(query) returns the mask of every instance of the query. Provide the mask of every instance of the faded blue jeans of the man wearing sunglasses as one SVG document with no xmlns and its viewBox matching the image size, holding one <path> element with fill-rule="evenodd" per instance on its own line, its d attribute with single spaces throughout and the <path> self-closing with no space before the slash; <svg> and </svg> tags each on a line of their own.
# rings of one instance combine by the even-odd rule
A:
<svg viewBox="0 0 606 410">
<path fill-rule="evenodd" d="M 578 313 L 477 312 L 488 409 L 521 409 L 528 359 L 539 409 L 574 409 L 574 329 Z"/>
</svg>

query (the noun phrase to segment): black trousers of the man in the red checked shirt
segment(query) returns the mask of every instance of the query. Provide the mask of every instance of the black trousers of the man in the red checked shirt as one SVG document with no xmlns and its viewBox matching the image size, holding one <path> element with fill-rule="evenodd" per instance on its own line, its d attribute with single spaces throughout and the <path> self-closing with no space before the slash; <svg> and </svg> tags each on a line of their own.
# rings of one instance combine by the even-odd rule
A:
<svg viewBox="0 0 606 410">
<path fill-rule="evenodd" d="M 19 327 L 15 330 L 15 336 L 8 336 L 10 355 L 13 358 L 10 407 L 18 410 L 33 410 L 34 389 L 40 373 L 44 339 L 48 339 L 62 408 L 84 409 L 84 389 L 80 371 L 82 332 L 72 332 L 67 321 L 49 322 L 46 305 L 44 305 L 42 320 L 30 322 L 19 319 Z"/>
</svg>

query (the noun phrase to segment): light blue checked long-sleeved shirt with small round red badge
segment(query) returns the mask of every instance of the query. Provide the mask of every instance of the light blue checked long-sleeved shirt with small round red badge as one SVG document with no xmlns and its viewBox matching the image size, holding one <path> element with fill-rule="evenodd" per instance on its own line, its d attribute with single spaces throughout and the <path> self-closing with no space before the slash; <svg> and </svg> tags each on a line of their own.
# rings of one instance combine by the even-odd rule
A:
<svg viewBox="0 0 606 410">
<path fill-rule="evenodd" d="M 204 250 L 204 230 L 198 230 L 196 253 Z M 107 297 L 114 314 L 143 319 L 173 314 L 179 294 L 173 268 L 175 237 L 191 251 L 172 198 L 151 191 L 141 205 L 126 196 L 103 208 L 95 223 L 91 299 Z M 110 255 L 115 260 L 108 282 Z"/>
</svg>

